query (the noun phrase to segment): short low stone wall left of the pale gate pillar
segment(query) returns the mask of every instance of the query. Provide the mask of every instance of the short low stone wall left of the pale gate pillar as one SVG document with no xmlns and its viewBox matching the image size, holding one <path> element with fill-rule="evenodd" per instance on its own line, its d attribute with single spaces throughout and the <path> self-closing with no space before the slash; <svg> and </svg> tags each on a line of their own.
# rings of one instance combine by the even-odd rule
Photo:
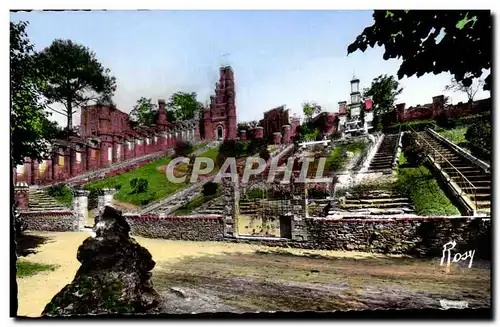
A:
<svg viewBox="0 0 500 327">
<path fill-rule="evenodd" d="M 78 230 L 78 219 L 71 210 L 20 213 L 28 231 L 69 232 Z"/>
</svg>

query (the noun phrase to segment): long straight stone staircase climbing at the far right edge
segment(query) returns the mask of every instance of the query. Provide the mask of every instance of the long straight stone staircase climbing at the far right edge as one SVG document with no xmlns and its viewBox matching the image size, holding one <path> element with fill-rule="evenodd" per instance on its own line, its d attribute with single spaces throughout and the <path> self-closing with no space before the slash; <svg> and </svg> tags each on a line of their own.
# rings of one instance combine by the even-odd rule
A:
<svg viewBox="0 0 500 327">
<path fill-rule="evenodd" d="M 433 156 L 432 150 L 429 152 L 442 171 L 447 173 L 471 202 L 475 204 L 476 212 L 480 215 L 490 215 L 491 174 L 470 159 L 462 156 L 449 144 L 433 137 L 429 132 L 419 132 L 418 135 L 427 141 L 436 150 L 436 153 L 439 153 L 439 155 Z M 423 146 L 427 148 L 427 144 L 423 144 Z"/>
</svg>

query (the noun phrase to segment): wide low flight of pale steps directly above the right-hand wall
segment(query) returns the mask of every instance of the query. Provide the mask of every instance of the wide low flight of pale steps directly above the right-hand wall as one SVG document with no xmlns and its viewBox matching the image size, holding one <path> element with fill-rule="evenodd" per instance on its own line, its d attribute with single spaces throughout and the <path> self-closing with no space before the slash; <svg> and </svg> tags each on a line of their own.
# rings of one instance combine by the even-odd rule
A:
<svg viewBox="0 0 500 327">
<path fill-rule="evenodd" d="M 393 190 L 374 190 L 346 193 L 337 208 L 330 208 L 328 216 L 364 217 L 416 215 L 411 200 Z"/>
</svg>

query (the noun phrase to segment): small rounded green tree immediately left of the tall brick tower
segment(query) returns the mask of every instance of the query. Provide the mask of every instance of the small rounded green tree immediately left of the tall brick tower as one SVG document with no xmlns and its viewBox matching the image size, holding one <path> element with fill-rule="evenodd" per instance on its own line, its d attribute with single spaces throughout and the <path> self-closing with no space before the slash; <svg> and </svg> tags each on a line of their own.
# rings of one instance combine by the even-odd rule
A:
<svg viewBox="0 0 500 327">
<path fill-rule="evenodd" d="M 196 100 L 196 92 L 176 92 L 172 94 L 166 107 L 167 117 L 173 122 L 198 117 L 203 110 L 203 103 Z"/>
</svg>

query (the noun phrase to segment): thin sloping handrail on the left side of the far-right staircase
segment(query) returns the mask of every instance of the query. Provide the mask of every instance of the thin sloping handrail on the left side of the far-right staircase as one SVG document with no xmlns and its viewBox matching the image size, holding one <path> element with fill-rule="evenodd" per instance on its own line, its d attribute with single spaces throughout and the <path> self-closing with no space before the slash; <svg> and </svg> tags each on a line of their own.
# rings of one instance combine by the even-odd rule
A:
<svg viewBox="0 0 500 327">
<path fill-rule="evenodd" d="M 457 167 L 455 167 L 445 156 L 443 156 L 439 151 L 434 148 L 424 137 L 418 134 L 411 126 L 408 126 L 413 134 L 416 135 L 417 139 L 421 141 L 422 146 L 426 149 L 426 153 L 432 156 L 433 160 L 437 162 L 439 158 L 439 166 L 444 171 L 445 168 L 451 168 L 451 170 L 446 171 L 446 174 L 460 187 L 460 195 L 472 194 L 473 198 L 468 196 L 468 198 L 474 203 L 474 210 L 477 210 L 477 188 L 472 184 L 467 177 L 465 177 Z M 427 133 L 427 132 L 425 132 Z M 465 192 L 465 189 L 469 189 L 470 192 Z"/>
</svg>

